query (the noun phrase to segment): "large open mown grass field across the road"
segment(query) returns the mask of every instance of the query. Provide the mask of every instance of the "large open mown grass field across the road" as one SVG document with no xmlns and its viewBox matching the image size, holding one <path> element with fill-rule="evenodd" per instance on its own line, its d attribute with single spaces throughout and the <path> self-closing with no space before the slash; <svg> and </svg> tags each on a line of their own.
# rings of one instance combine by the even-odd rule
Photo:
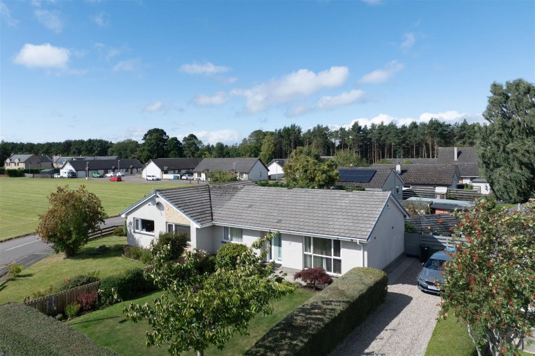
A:
<svg viewBox="0 0 535 356">
<path fill-rule="evenodd" d="M 47 196 L 58 185 L 69 185 L 78 189 L 85 185 L 96 194 L 108 216 L 122 212 L 154 187 L 172 188 L 190 186 L 181 183 L 157 185 L 154 183 L 110 183 L 106 180 L 82 179 L 32 179 L 0 178 L 0 241 L 22 235 L 32 234 L 38 226 L 39 215 L 49 207 Z"/>
</svg>

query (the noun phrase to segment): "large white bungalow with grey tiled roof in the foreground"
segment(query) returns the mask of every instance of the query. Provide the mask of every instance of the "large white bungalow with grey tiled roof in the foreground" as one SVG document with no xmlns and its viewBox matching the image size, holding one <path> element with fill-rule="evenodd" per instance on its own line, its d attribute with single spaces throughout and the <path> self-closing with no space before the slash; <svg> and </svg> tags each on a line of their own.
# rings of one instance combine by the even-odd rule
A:
<svg viewBox="0 0 535 356">
<path fill-rule="evenodd" d="M 149 246 L 159 232 L 189 230 L 190 244 L 217 253 L 278 232 L 268 260 L 288 269 L 384 269 L 404 252 L 409 215 L 391 192 L 259 187 L 254 183 L 157 189 L 121 213 L 127 241 Z"/>
</svg>

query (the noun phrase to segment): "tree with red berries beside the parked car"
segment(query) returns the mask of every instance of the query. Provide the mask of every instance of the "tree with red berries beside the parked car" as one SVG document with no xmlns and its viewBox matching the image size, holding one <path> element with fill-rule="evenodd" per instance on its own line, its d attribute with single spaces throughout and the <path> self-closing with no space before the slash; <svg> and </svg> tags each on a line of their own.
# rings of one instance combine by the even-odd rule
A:
<svg viewBox="0 0 535 356">
<path fill-rule="evenodd" d="M 444 264 L 441 316 L 461 319 L 479 355 L 513 355 L 520 338 L 535 327 L 534 205 L 509 214 L 493 201 L 455 212 L 466 243 Z"/>
</svg>

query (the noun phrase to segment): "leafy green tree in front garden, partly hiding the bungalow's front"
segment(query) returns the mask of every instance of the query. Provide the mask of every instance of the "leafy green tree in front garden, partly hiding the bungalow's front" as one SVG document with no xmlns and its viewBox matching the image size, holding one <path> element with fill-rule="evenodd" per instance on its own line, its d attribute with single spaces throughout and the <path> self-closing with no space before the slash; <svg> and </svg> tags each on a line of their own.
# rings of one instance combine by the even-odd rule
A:
<svg viewBox="0 0 535 356">
<path fill-rule="evenodd" d="M 271 238 L 269 234 L 252 247 L 259 249 Z M 181 264 L 168 263 L 168 253 L 166 246 L 156 254 L 150 273 L 163 289 L 162 296 L 153 305 L 131 303 L 124 312 L 134 322 L 147 319 L 152 327 L 147 346 L 169 344 L 172 355 L 188 350 L 202 353 L 211 345 L 223 348 L 232 334 L 247 334 L 256 314 L 271 314 L 270 300 L 295 290 L 282 283 L 282 276 L 272 275 L 273 263 L 263 263 L 267 250 L 257 255 L 249 248 L 236 269 L 204 275 L 197 272 L 192 253 L 186 253 Z"/>
</svg>

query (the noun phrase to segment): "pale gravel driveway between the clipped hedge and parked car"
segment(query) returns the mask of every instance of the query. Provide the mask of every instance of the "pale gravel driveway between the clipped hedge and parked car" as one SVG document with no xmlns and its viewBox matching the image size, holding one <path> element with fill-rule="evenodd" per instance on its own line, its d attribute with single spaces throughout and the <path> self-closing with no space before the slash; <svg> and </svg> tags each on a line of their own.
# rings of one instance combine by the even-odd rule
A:
<svg viewBox="0 0 535 356">
<path fill-rule="evenodd" d="M 388 273 L 383 305 L 357 326 L 329 356 L 423 356 L 435 328 L 441 298 L 416 287 L 422 264 L 403 257 Z"/>
</svg>

